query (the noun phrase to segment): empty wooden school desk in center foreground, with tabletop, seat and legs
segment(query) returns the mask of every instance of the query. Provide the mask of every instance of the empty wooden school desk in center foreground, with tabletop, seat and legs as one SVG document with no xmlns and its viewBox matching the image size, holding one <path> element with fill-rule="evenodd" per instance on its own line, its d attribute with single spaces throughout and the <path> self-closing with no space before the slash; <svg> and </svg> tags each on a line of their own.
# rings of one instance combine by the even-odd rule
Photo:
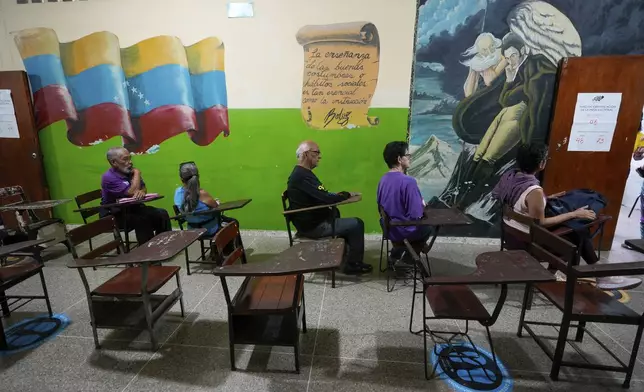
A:
<svg viewBox="0 0 644 392">
<path fill-rule="evenodd" d="M 300 325 L 306 332 L 304 273 L 337 268 L 345 242 L 337 238 L 303 242 L 261 263 L 215 269 L 221 279 L 228 310 L 230 366 L 235 365 L 235 344 L 290 346 L 299 373 Z M 244 276 L 234 297 L 226 278 Z"/>
</svg>

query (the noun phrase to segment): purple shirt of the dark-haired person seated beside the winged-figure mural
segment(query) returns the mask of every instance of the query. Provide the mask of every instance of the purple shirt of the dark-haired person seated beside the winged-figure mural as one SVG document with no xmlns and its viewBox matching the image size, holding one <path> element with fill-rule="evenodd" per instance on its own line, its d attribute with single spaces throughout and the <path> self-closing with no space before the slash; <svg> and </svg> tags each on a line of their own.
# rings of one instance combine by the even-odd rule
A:
<svg viewBox="0 0 644 392">
<path fill-rule="evenodd" d="M 419 220 L 423 217 L 423 196 L 416 180 L 406 174 L 385 173 L 378 184 L 377 200 L 392 222 Z M 418 230 L 417 226 L 391 227 L 389 239 L 400 242 Z"/>
</svg>

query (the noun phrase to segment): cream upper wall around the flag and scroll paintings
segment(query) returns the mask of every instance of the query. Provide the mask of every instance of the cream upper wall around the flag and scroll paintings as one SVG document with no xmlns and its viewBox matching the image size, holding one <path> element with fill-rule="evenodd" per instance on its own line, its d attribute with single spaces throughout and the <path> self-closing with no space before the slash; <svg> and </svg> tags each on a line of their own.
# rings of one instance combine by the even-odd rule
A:
<svg viewBox="0 0 644 392">
<path fill-rule="evenodd" d="M 238 0 L 240 1 L 240 0 Z M 226 46 L 231 108 L 301 105 L 300 27 L 366 21 L 380 35 L 380 73 L 372 107 L 408 107 L 416 0 L 255 0 L 255 17 L 228 19 L 226 0 L 87 0 L 18 5 L 0 0 L 0 70 L 24 69 L 12 32 L 49 27 L 61 42 L 110 31 L 121 47 L 157 35 L 191 45 L 216 36 Z"/>
</svg>

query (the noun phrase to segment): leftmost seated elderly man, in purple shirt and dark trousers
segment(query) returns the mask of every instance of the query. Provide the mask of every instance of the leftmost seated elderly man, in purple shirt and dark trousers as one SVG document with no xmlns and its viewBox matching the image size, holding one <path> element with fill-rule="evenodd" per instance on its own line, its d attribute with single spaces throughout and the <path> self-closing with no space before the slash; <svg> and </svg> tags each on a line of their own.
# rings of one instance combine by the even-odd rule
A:
<svg viewBox="0 0 644 392">
<path fill-rule="evenodd" d="M 101 204 L 116 203 L 118 199 L 125 197 L 143 199 L 147 189 L 141 171 L 132 165 L 130 152 L 123 147 L 112 147 L 107 150 L 107 161 L 112 167 L 101 178 Z M 168 212 L 161 208 L 137 204 L 128 207 L 127 214 L 123 214 L 123 210 L 119 208 L 100 212 L 101 217 L 109 214 L 116 217 L 119 227 L 127 223 L 128 229 L 134 229 L 139 244 L 172 229 Z M 123 220 L 124 216 L 127 222 Z"/>
</svg>

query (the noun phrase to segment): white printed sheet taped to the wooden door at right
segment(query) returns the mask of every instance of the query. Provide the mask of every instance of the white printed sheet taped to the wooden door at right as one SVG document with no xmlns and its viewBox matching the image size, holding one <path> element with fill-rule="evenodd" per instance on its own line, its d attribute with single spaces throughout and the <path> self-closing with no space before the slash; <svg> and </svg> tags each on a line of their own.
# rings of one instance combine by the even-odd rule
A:
<svg viewBox="0 0 644 392">
<path fill-rule="evenodd" d="M 610 151 L 621 103 L 622 93 L 577 94 L 568 151 Z"/>
</svg>

